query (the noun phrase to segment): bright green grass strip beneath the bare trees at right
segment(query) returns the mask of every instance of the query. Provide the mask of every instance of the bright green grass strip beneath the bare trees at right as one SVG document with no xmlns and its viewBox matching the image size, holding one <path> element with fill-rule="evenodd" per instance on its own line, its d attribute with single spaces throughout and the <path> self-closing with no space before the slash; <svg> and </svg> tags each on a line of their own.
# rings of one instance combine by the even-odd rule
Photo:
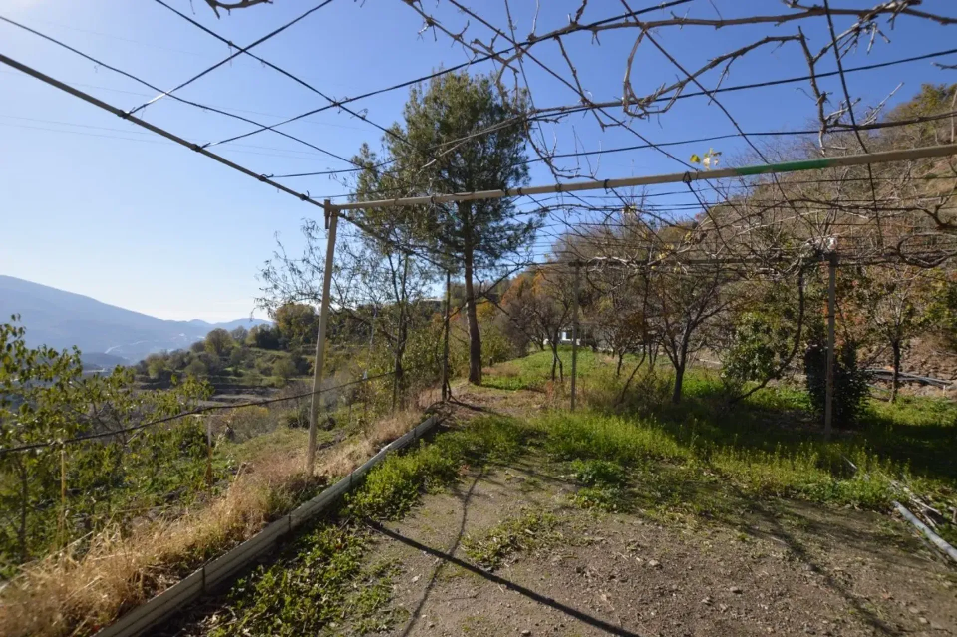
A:
<svg viewBox="0 0 957 637">
<path fill-rule="evenodd" d="M 488 380 L 535 386 L 547 377 L 550 361 L 550 352 L 535 353 L 500 365 L 503 375 L 493 373 Z M 897 480 L 943 510 L 957 503 L 957 405 L 951 401 L 904 396 L 888 405 L 871 400 L 856 428 L 838 430 L 825 443 L 800 387 L 768 387 L 731 405 L 717 372 L 691 369 L 676 406 L 669 400 L 672 377 L 659 366 L 651 378 L 639 372 L 619 402 L 629 361 L 616 377 L 610 357 L 583 349 L 579 370 L 579 386 L 585 387 L 580 404 L 586 409 L 547 413 L 527 427 L 556 460 L 608 460 L 632 473 L 654 466 L 659 475 L 679 480 L 674 489 L 653 480 L 649 498 L 637 498 L 645 504 L 653 503 L 657 490 L 659 500 L 682 493 L 689 500 L 701 498 L 701 508 L 708 509 L 705 500 L 714 495 L 710 478 L 715 475 L 725 481 L 724 488 L 746 497 L 798 497 L 884 510 L 901 497 L 891 482 Z M 590 490 L 583 495 L 586 503 L 604 506 L 613 499 L 606 497 L 614 494 L 610 485 L 584 488 Z"/>
</svg>

